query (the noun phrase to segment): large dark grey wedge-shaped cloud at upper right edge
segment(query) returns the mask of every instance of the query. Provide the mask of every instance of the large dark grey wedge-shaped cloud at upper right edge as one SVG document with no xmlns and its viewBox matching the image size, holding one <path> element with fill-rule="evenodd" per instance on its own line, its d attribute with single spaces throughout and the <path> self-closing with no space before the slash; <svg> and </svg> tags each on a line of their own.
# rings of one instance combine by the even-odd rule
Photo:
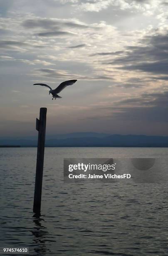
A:
<svg viewBox="0 0 168 256">
<path fill-rule="evenodd" d="M 124 56 L 104 61 L 118 69 L 168 74 L 168 31 L 145 36 L 139 46 L 127 46 Z"/>
</svg>

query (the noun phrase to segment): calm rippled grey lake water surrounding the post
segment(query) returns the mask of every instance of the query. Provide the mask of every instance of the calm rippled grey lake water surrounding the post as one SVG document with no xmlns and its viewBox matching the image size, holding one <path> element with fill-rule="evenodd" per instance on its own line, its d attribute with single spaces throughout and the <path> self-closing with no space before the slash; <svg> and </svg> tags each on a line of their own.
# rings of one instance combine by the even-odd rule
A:
<svg viewBox="0 0 168 256">
<path fill-rule="evenodd" d="M 0 247 L 41 256 L 168 255 L 167 183 L 63 182 L 64 158 L 159 158 L 168 148 L 46 148 L 40 218 L 32 212 L 36 156 L 36 148 L 0 148 Z"/>
</svg>

